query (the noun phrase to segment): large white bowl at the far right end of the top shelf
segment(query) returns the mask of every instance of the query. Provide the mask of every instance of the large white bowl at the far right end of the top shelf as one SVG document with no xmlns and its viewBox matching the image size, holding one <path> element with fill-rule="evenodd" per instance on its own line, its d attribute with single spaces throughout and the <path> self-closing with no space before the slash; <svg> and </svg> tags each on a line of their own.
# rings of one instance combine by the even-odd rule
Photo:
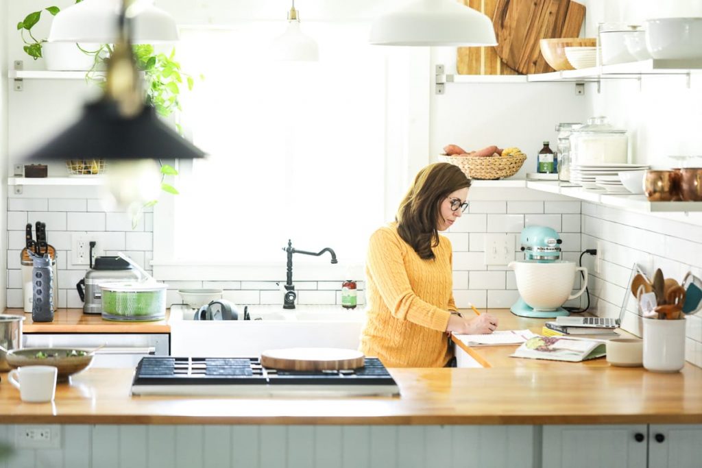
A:
<svg viewBox="0 0 702 468">
<path fill-rule="evenodd" d="M 702 58 L 702 18 L 658 18 L 646 22 L 646 44 L 657 59 Z"/>
</svg>

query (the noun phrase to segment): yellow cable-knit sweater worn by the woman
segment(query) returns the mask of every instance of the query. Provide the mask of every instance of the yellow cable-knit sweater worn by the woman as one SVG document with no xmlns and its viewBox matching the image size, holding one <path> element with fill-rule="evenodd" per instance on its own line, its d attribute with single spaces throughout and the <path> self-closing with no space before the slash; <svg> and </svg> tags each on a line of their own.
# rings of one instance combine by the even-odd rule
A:
<svg viewBox="0 0 702 468">
<path fill-rule="evenodd" d="M 366 259 L 367 322 L 361 351 L 388 367 L 442 367 L 453 356 L 446 337 L 453 301 L 451 242 L 439 236 L 422 260 L 397 223 L 371 236 Z"/>
</svg>

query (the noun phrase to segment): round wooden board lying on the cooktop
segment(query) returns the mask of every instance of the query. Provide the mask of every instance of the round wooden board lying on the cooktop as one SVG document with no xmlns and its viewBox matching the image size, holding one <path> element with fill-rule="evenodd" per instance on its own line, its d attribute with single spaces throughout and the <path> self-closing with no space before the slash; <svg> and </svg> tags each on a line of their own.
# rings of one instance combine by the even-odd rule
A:
<svg viewBox="0 0 702 468">
<path fill-rule="evenodd" d="M 364 355 L 355 349 L 286 348 L 261 353 L 261 365 L 279 370 L 340 370 L 364 366 Z"/>
</svg>

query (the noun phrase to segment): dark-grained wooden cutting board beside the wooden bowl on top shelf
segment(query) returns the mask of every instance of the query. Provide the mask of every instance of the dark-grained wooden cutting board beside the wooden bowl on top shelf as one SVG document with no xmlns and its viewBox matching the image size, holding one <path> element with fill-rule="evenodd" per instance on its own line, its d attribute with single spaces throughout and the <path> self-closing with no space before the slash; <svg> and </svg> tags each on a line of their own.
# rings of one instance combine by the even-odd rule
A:
<svg viewBox="0 0 702 468">
<path fill-rule="evenodd" d="M 497 55 L 522 74 L 552 72 L 538 41 L 578 37 L 585 6 L 572 0 L 496 0 L 492 22 Z"/>
</svg>

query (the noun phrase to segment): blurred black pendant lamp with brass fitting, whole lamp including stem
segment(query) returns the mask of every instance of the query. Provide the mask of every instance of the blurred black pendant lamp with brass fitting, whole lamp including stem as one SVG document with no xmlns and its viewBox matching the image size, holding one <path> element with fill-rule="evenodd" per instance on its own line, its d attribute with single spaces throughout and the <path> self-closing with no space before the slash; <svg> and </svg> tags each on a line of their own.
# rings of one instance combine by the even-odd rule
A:
<svg viewBox="0 0 702 468">
<path fill-rule="evenodd" d="M 27 161 L 70 159 L 195 159 L 205 153 L 166 123 L 154 107 L 146 105 L 131 47 L 129 0 L 119 15 L 119 39 L 107 60 L 105 93 L 89 102 L 76 123 L 26 156 Z"/>
</svg>

